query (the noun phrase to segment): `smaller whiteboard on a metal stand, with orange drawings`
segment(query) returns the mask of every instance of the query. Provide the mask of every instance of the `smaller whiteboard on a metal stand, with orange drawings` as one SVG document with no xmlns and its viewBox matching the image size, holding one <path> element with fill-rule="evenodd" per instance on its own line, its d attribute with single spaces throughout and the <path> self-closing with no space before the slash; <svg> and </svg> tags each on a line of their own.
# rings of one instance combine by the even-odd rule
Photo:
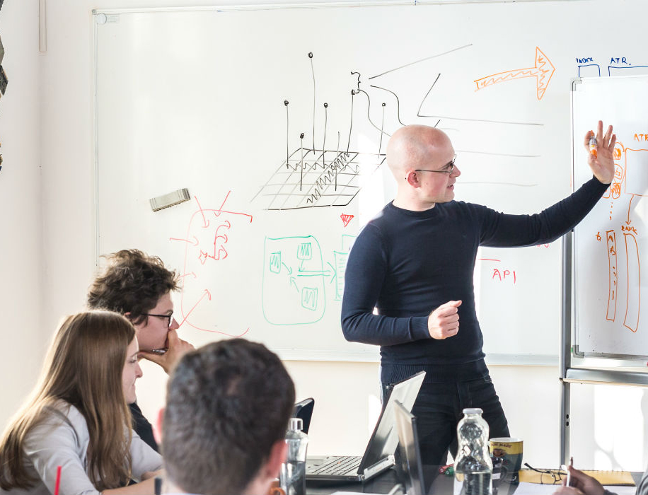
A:
<svg viewBox="0 0 648 495">
<path fill-rule="evenodd" d="M 648 293 L 641 265 L 648 248 L 643 199 L 648 194 L 648 77 L 584 78 L 573 88 L 575 161 L 584 159 L 582 136 L 594 115 L 614 122 L 618 139 L 615 179 L 574 231 L 575 350 L 645 359 Z M 583 175 L 578 171 L 577 181 Z"/>
</svg>

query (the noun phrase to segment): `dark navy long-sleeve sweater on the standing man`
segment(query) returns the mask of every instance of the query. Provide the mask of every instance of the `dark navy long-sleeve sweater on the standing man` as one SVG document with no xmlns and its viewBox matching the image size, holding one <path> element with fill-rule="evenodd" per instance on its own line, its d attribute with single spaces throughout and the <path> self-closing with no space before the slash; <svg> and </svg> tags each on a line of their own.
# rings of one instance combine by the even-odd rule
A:
<svg viewBox="0 0 648 495">
<path fill-rule="evenodd" d="M 383 382 L 420 370 L 427 371 L 426 381 L 479 378 L 486 366 L 473 287 L 478 247 L 550 243 L 574 228 L 607 187 L 592 178 L 535 215 L 502 214 L 456 201 L 427 211 L 387 204 L 349 254 L 342 300 L 345 338 L 381 346 Z M 458 333 L 432 339 L 429 313 L 458 300 L 463 301 Z"/>
</svg>

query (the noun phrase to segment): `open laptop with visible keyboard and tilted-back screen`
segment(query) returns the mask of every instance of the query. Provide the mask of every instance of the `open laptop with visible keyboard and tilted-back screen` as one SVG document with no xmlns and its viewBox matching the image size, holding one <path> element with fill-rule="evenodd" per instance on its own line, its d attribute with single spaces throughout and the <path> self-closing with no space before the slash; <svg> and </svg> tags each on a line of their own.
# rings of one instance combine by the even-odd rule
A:
<svg viewBox="0 0 648 495">
<path fill-rule="evenodd" d="M 306 458 L 306 479 L 322 482 L 363 482 L 395 465 L 394 453 L 398 447 L 395 402 L 400 402 L 405 409 L 411 411 L 424 377 L 425 372 L 421 371 L 393 385 L 362 457 L 309 456 Z"/>
</svg>

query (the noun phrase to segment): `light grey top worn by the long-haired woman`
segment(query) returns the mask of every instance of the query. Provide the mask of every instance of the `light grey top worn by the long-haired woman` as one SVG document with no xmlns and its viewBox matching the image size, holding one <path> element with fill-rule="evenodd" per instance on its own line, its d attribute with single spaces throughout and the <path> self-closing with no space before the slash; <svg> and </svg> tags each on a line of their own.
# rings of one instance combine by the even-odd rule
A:
<svg viewBox="0 0 648 495">
<path fill-rule="evenodd" d="M 25 467 L 34 477 L 40 478 L 40 481 L 27 490 L 0 489 L 0 494 L 53 494 L 57 466 L 61 466 L 60 494 L 99 495 L 100 491 L 88 477 L 90 435 L 86 419 L 79 409 L 67 402 L 61 402 L 55 409 L 45 409 L 45 414 L 45 419 L 28 433 L 23 445 Z M 161 469 L 162 457 L 139 438 L 137 433 L 133 431 L 132 435 L 132 477 L 139 480 L 144 472 Z"/>
</svg>

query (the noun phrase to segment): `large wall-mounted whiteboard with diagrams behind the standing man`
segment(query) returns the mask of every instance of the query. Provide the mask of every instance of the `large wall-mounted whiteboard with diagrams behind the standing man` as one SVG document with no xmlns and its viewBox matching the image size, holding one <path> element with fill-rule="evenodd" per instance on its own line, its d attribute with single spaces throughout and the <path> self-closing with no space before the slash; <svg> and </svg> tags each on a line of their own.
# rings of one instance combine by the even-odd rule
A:
<svg viewBox="0 0 648 495">
<path fill-rule="evenodd" d="M 354 236 L 393 198 L 388 135 L 444 129 L 457 199 L 535 213 L 565 197 L 570 79 L 613 56 L 648 62 L 636 42 L 648 9 L 616 5 L 623 23 L 608 9 L 98 10 L 98 254 L 137 247 L 178 269 L 180 333 L 197 344 L 245 334 L 286 357 L 376 359 L 343 339 L 340 296 Z M 151 211 L 183 187 L 189 202 Z M 492 362 L 555 361 L 560 255 L 560 243 L 480 253 Z"/>
</svg>

